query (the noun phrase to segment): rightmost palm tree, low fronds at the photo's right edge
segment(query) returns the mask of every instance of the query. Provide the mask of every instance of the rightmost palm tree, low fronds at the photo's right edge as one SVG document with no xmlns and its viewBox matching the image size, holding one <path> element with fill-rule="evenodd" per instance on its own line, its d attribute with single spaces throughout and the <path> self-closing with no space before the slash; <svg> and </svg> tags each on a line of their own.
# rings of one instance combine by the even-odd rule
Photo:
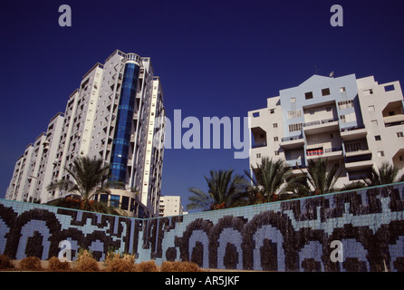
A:
<svg viewBox="0 0 404 290">
<path fill-rule="evenodd" d="M 363 181 L 368 187 L 404 181 L 404 174 L 398 177 L 399 169 L 389 162 L 383 162 L 378 169 L 372 168 Z"/>
</svg>

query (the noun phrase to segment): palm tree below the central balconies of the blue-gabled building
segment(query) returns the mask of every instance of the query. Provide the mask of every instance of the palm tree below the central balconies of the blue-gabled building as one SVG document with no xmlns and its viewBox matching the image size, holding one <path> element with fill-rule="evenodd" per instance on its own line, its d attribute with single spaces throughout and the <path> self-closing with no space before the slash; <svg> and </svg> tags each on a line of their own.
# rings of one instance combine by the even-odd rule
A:
<svg viewBox="0 0 404 290">
<path fill-rule="evenodd" d="M 337 190 L 334 188 L 334 185 L 341 175 L 341 171 L 338 172 L 340 164 L 335 163 L 329 171 L 327 171 L 327 167 L 327 159 L 309 160 L 307 181 L 312 189 L 314 189 L 314 195 L 321 195 Z"/>
</svg>

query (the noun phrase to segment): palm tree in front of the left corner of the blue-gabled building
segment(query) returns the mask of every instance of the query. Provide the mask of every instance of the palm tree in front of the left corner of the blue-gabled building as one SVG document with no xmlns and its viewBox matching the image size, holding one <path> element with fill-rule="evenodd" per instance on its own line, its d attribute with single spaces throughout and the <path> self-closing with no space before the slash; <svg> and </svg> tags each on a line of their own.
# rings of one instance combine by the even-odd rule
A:
<svg viewBox="0 0 404 290">
<path fill-rule="evenodd" d="M 294 179 L 291 169 L 283 160 L 263 158 L 261 164 L 257 163 L 254 177 L 245 170 L 245 175 L 251 180 L 252 185 L 248 188 L 250 201 L 253 204 L 274 201 L 285 182 Z"/>
</svg>

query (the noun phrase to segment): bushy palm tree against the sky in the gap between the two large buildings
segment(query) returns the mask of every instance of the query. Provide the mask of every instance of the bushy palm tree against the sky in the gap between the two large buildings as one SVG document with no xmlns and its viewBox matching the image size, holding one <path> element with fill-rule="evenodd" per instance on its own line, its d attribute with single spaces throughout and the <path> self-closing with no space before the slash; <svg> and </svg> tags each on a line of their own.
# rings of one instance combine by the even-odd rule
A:
<svg viewBox="0 0 404 290">
<path fill-rule="evenodd" d="M 244 198 L 245 179 L 236 174 L 234 170 L 210 170 L 210 177 L 207 180 L 207 193 L 201 189 L 190 188 L 194 195 L 188 200 L 188 209 L 201 208 L 203 210 L 232 208 L 237 206 L 237 202 Z"/>
</svg>

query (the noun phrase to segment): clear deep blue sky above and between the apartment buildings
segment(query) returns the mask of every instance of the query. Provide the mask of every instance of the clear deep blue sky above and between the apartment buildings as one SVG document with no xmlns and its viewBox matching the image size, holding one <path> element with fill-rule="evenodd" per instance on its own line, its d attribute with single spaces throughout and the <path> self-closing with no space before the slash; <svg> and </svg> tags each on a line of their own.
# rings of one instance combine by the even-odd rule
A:
<svg viewBox="0 0 404 290">
<path fill-rule="evenodd" d="M 72 27 L 58 8 L 72 7 Z M 332 5 L 343 26 L 332 27 Z M 115 50 L 151 57 L 168 118 L 245 117 L 313 75 L 356 73 L 404 84 L 404 2 L 6 1 L 0 4 L 0 198 L 14 162 Z M 162 195 L 206 190 L 209 169 L 243 173 L 235 150 L 166 150 Z"/>
</svg>

